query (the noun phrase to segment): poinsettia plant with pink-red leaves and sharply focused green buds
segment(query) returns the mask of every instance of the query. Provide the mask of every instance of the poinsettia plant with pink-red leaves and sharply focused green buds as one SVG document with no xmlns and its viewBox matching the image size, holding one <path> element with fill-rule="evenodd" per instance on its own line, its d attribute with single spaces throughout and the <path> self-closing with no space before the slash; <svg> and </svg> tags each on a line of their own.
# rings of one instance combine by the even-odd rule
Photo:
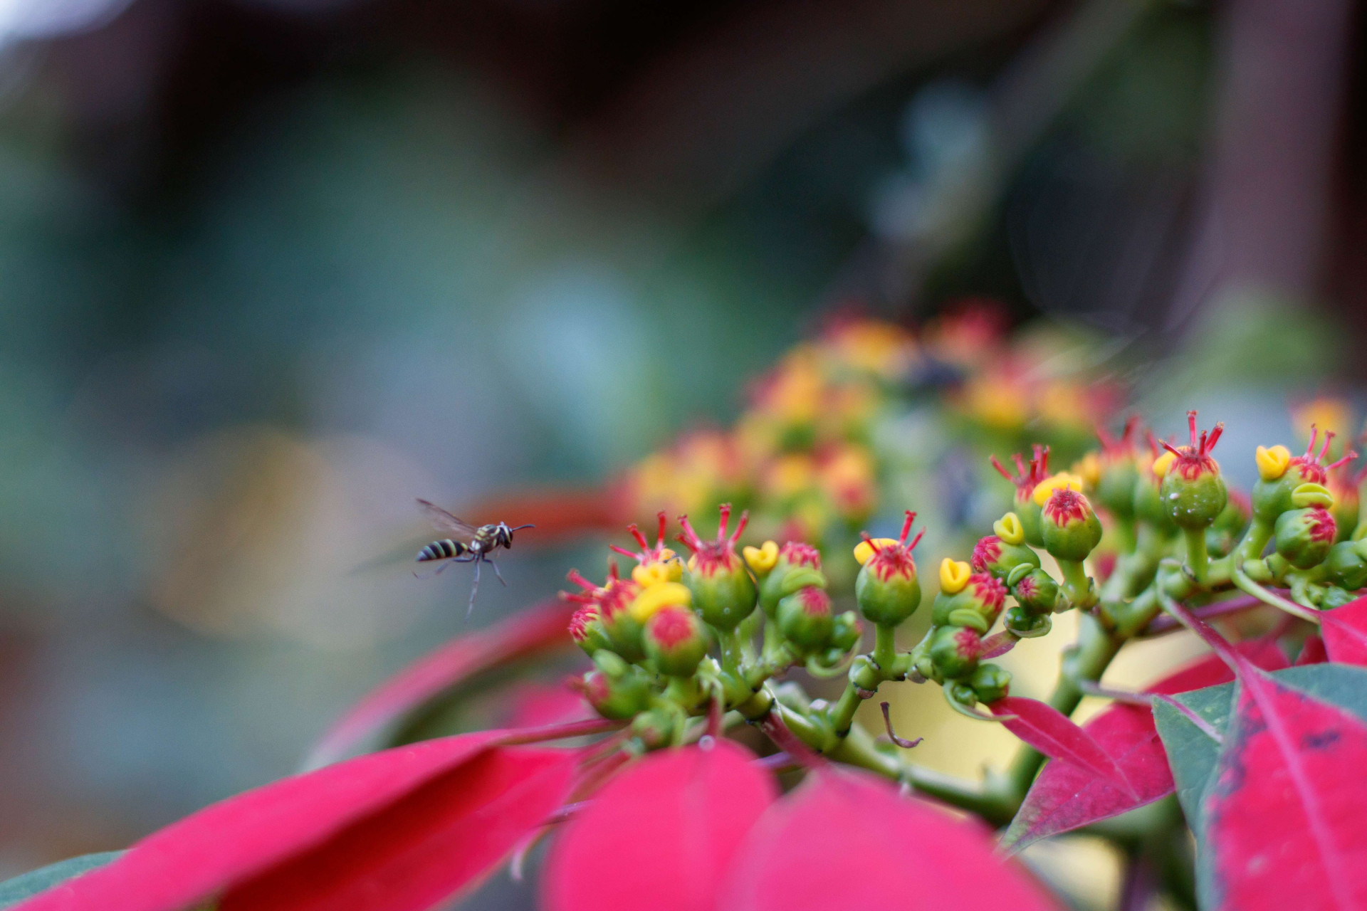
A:
<svg viewBox="0 0 1367 911">
<path fill-rule="evenodd" d="M 612 546 L 626 568 L 570 572 L 576 590 L 375 691 L 312 770 L 122 854 L 3 884 L 0 901 L 421 911 L 540 863 L 551 911 L 1050 908 L 1059 899 L 1013 855 L 1085 829 L 1124 850 L 1128 907 L 1362 907 L 1367 523 L 1353 455 L 1330 460 L 1318 433 L 1299 456 L 1259 447 L 1244 496 L 1214 455 L 1221 425 L 1188 422 L 1181 445 L 1141 443 L 1135 421 L 1102 432 L 1064 471 L 1044 445 L 1014 471 L 994 459 L 1010 509 L 928 580 L 909 509 L 895 538 L 864 534 L 842 553 L 801 522 L 748 537 L 746 512 L 725 503 L 715 533 L 660 512 L 653 535 L 630 526 Z M 837 557 L 856 570 L 828 572 Z M 1248 611 L 1280 620 L 1243 641 L 1213 626 Z M 1013 695 L 992 658 L 1065 612 L 1079 632 L 1053 694 Z M 927 632 L 899 641 L 916 616 Z M 1143 691 L 1100 683 L 1128 643 L 1182 628 L 1207 657 Z M 424 714 L 488 672 L 573 646 L 585 669 L 565 690 L 502 675 L 506 724 L 424 736 Z M 843 688 L 812 698 L 812 677 Z M 884 731 L 856 718 L 905 686 L 939 687 L 1016 735 L 1006 772 L 919 765 L 886 702 Z M 1111 705 L 1077 724 L 1084 695 Z"/>
</svg>

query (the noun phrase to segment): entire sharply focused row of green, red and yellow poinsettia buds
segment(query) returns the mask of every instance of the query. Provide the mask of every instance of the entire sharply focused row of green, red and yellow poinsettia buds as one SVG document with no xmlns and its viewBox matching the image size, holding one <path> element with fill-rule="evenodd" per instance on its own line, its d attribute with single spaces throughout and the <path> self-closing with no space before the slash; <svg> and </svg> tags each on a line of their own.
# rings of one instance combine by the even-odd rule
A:
<svg viewBox="0 0 1367 911">
<path fill-rule="evenodd" d="M 994 458 L 1016 486 L 1014 508 L 969 560 L 940 563 L 930 631 L 910 651 L 898 651 L 894 634 L 923 600 L 915 512 L 905 514 L 897 538 L 865 533 L 853 548 L 857 613 L 837 613 L 822 553 L 811 544 L 740 548 L 746 515 L 733 530 L 729 505 L 720 507 L 712 539 L 679 516 L 678 539 L 692 552 L 686 561 L 664 545 L 664 514 L 653 545 L 632 526 L 638 549 L 614 548 L 636 560 L 629 578 L 612 567 L 599 586 L 570 574 L 582 589 L 565 595 L 581 605 L 570 631 L 595 662 L 582 690 L 601 714 L 630 718 L 648 748 L 696 732 L 690 717 L 735 709 L 755 721 L 776 713 L 808 746 L 834 751 L 858 703 L 884 682 L 934 680 L 957 710 L 994 717 L 977 705 L 1006 697 L 1010 675 L 990 658 L 1048 634 L 1062 611 L 1079 608 L 1125 638 L 1167 597 L 1213 598 L 1239 587 L 1296 612 L 1345 604 L 1367 586 L 1367 523 L 1342 529 L 1357 519 L 1356 490 L 1346 489 L 1363 477 L 1331 481 L 1355 453 L 1326 464 L 1330 434 L 1322 441 L 1312 434 L 1296 458 L 1285 447 L 1260 447 L 1259 481 L 1245 497 L 1229 490 L 1213 456 L 1222 426 L 1200 432 L 1195 411 L 1188 426 L 1187 445 L 1148 434 L 1144 453 L 1132 419 L 1118 437 L 1100 433 L 1100 451 L 1054 474 L 1046 447 L 1035 447 L 1029 462 L 1014 456 L 1014 474 Z M 1352 494 L 1351 516 L 1336 512 L 1331 485 Z M 1115 534 L 1099 553 L 1102 515 Z M 1300 606 L 1266 585 L 1288 589 Z M 861 619 L 876 635 L 872 651 L 857 656 Z M 827 703 L 787 698 L 791 684 L 766 688 L 793 665 L 819 676 L 848 668 L 845 695 Z"/>
</svg>

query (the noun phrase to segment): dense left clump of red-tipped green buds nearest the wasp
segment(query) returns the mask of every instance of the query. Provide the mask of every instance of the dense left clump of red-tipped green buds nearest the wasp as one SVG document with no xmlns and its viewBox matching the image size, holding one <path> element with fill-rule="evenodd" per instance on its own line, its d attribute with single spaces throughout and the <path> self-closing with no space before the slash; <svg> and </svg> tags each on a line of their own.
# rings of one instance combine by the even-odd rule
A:
<svg viewBox="0 0 1367 911">
<path fill-rule="evenodd" d="M 746 705 L 766 679 L 794 662 L 838 667 L 860 641 L 854 612 L 834 611 L 815 548 L 767 541 L 742 556 L 746 515 L 734 530 L 730 519 L 731 507 L 722 505 L 716 537 L 703 539 L 679 516 L 678 539 L 692 552 L 686 561 L 666 546 L 663 512 L 653 545 L 633 524 L 638 549 L 612 546 L 636 560 L 630 578 L 615 564 L 601 586 L 570 572 L 582 590 L 562 593 L 580 605 L 570 635 L 595 664 L 580 688 L 604 717 L 633 720 L 647 747 L 679 742 L 688 718 L 718 701 L 726 709 Z M 766 620 L 757 654 L 752 639 Z M 764 710 L 763 694 L 756 705 Z"/>
</svg>

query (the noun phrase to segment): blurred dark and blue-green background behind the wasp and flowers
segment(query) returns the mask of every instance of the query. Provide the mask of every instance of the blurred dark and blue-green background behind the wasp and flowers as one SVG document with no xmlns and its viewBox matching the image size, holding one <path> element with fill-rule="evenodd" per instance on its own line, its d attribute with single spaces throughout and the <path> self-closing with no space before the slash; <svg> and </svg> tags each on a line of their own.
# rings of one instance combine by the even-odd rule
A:
<svg viewBox="0 0 1367 911">
<path fill-rule="evenodd" d="M 599 559 L 468 620 L 383 559 L 413 497 L 600 482 L 833 307 L 1080 324 L 1232 451 L 1352 400 L 1362 26 L 1312 5 L 0 3 L 0 877 Z"/>
</svg>

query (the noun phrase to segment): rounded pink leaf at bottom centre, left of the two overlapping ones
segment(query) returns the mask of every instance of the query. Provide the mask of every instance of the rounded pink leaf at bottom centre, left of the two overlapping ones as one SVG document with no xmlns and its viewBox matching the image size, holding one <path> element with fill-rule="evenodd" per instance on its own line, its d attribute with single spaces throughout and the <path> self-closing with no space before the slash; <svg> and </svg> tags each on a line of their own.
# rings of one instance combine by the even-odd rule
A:
<svg viewBox="0 0 1367 911">
<path fill-rule="evenodd" d="M 737 845 L 774 802 L 772 777 L 731 740 L 656 753 L 593 796 L 551 847 L 550 911 L 712 911 Z"/>
</svg>

